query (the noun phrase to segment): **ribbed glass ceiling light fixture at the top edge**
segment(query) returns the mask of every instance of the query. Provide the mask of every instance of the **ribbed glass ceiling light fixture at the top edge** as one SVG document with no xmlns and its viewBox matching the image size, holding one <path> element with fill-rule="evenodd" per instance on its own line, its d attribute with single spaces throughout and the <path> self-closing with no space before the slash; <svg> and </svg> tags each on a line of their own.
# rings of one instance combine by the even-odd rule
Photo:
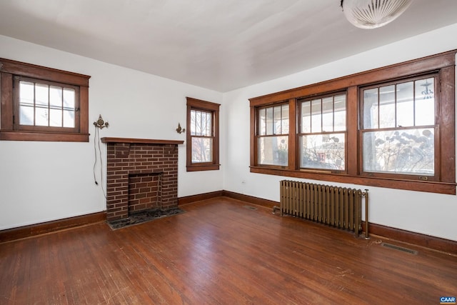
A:
<svg viewBox="0 0 457 305">
<path fill-rule="evenodd" d="M 351 24 L 376 29 L 395 20 L 412 0 L 341 0 L 341 8 Z"/>
</svg>

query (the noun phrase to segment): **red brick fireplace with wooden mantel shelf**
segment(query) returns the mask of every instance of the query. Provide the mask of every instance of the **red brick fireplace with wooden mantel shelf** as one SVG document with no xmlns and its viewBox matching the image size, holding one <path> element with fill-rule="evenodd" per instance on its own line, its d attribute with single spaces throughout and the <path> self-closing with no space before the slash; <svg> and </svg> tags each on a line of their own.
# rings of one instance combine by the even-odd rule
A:
<svg viewBox="0 0 457 305">
<path fill-rule="evenodd" d="M 106 220 L 178 206 L 178 145 L 184 141 L 101 138 L 107 145 Z"/>
</svg>

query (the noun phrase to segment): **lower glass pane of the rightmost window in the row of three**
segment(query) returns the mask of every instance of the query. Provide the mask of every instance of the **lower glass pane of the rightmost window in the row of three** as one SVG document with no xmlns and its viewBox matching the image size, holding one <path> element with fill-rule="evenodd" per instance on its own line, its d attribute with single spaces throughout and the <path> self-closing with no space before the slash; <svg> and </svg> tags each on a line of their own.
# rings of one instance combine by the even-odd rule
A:
<svg viewBox="0 0 457 305">
<path fill-rule="evenodd" d="M 363 171 L 433 176 L 433 133 L 433 129 L 365 132 Z"/>
</svg>

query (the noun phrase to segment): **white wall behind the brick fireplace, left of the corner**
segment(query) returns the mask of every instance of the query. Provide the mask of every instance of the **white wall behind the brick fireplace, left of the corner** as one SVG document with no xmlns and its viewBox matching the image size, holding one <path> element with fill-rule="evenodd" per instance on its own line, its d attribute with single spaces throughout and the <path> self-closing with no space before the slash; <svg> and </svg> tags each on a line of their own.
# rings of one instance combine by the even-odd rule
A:
<svg viewBox="0 0 457 305">
<path fill-rule="evenodd" d="M 178 122 L 186 126 L 186 96 L 222 101 L 216 91 L 6 36 L 0 36 L 0 57 L 90 75 L 89 124 L 99 114 L 109 121 L 101 137 L 185 141 L 185 134 L 175 129 Z M 90 127 L 89 143 L 0 141 L 0 229 L 106 210 L 100 163 L 99 186 L 94 183 L 94 126 Z M 105 144 L 101 150 L 106 164 Z M 222 170 L 188 173 L 185 158 L 184 144 L 179 146 L 179 197 L 223 189 Z"/>
</svg>

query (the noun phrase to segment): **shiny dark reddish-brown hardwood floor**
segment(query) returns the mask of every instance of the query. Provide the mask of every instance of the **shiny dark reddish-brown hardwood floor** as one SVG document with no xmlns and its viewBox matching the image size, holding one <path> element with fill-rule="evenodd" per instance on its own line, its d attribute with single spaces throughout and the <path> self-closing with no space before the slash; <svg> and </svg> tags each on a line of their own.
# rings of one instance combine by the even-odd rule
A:
<svg viewBox="0 0 457 305">
<path fill-rule="evenodd" d="M 0 244 L 0 304 L 439 304 L 457 257 L 228 198 Z"/>
</svg>

